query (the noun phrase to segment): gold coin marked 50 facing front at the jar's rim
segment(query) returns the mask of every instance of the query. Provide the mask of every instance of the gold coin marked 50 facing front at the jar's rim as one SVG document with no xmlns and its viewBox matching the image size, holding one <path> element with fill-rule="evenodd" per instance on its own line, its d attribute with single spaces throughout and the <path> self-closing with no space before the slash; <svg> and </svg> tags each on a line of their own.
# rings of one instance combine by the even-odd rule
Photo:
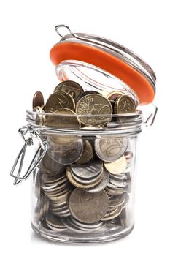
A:
<svg viewBox="0 0 170 256">
<path fill-rule="evenodd" d="M 77 102 L 76 113 L 77 115 L 85 115 L 77 116 L 82 124 L 88 126 L 103 125 L 112 118 L 112 105 L 100 94 L 88 94 Z"/>
</svg>

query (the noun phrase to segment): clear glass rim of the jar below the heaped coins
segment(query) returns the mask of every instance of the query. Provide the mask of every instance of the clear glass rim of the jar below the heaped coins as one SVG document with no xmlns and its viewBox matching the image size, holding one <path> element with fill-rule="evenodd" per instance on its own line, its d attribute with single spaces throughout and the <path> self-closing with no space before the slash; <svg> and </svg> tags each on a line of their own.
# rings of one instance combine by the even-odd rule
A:
<svg viewBox="0 0 170 256">
<path fill-rule="evenodd" d="M 46 132 L 57 132 L 57 133 L 64 133 L 67 134 L 81 134 L 81 135 L 92 135 L 92 134 L 115 134 L 115 135 L 127 135 L 127 134 L 136 134 L 142 131 L 142 124 L 144 124 L 143 121 L 143 115 L 142 111 L 137 110 L 136 113 L 128 113 L 128 114 L 112 114 L 112 115 L 102 115 L 102 117 L 109 117 L 109 118 L 115 118 L 114 121 L 110 121 L 108 124 L 101 125 L 101 126 L 87 126 L 87 127 L 80 127 L 80 128 L 72 128 L 72 127 L 50 127 L 46 126 L 45 124 L 45 118 L 47 116 L 57 117 L 57 118 L 63 118 L 63 116 L 66 118 L 82 118 L 82 117 L 89 117 L 89 115 L 61 115 L 56 113 L 38 113 L 31 110 L 26 110 L 26 121 L 29 125 L 32 125 L 36 128 L 41 129 L 42 131 Z M 98 116 L 101 115 L 90 115 L 91 118 L 98 118 Z M 124 120 L 123 120 L 124 118 Z M 122 120 L 122 122 L 121 122 Z"/>
</svg>

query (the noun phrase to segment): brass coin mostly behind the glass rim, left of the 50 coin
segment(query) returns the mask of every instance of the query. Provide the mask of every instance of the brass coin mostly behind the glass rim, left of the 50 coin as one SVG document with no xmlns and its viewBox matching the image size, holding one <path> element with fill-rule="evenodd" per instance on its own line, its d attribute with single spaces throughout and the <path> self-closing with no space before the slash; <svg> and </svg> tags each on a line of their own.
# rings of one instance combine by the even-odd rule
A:
<svg viewBox="0 0 170 256">
<path fill-rule="evenodd" d="M 60 108 L 53 112 L 52 115 L 46 116 L 45 125 L 58 129 L 72 128 L 79 129 L 80 123 L 77 120 L 76 113 L 68 108 Z"/>
</svg>

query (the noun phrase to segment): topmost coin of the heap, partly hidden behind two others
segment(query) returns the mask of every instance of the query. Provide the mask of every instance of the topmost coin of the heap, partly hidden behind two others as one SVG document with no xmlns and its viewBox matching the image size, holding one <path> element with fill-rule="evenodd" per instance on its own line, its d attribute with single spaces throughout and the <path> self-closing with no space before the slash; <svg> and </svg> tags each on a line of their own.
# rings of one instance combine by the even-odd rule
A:
<svg viewBox="0 0 170 256">
<path fill-rule="evenodd" d="M 59 83 L 58 86 L 55 87 L 54 93 L 56 91 L 67 92 L 68 94 L 70 94 L 73 97 L 73 99 L 76 102 L 77 98 L 80 96 L 80 94 L 83 93 L 84 90 L 82 89 L 82 86 L 80 86 L 79 83 L 76 83 L 71 80 L 67 80 L 67 81 L 63 81 L 63 82 Z"/>
</svg>

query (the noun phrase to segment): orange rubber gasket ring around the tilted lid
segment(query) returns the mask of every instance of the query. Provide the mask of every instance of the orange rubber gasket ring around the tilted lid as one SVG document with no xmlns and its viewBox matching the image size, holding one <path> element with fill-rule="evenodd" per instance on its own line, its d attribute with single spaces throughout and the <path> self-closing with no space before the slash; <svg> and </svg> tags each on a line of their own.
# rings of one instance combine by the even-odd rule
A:
<svg viewBox="0 0 170 256">
<path fill-rule="evenodd" d="M 104 69 L 130 86 L 136 92 L 140 105 L 151 103 L 155 97 L 155 91 L 144 75 L 117 57 L 94 46 L 78 42 L 60 42 L 50 50 L 50 59 L 55 66 L 61 61 L 77 60 Z"/>
</svg>

